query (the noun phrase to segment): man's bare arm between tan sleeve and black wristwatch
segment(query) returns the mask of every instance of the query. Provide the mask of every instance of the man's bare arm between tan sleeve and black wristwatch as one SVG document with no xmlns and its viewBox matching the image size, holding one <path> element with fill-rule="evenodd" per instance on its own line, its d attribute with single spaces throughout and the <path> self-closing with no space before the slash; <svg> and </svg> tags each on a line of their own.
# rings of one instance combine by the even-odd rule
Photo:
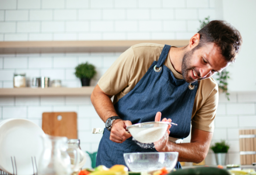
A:
<svg viewBox="0 0 256 175">
<path fill-rule="evenodd" d="M 94 88 L 93 93 L 91 94 L 91 102 L 99 117 L 101 117 L 104 122 L 106 122 L 109 117 L 117 116 L 110 97 L 111 96 L 103 93 L 98 85 Z"/>
</svg>

